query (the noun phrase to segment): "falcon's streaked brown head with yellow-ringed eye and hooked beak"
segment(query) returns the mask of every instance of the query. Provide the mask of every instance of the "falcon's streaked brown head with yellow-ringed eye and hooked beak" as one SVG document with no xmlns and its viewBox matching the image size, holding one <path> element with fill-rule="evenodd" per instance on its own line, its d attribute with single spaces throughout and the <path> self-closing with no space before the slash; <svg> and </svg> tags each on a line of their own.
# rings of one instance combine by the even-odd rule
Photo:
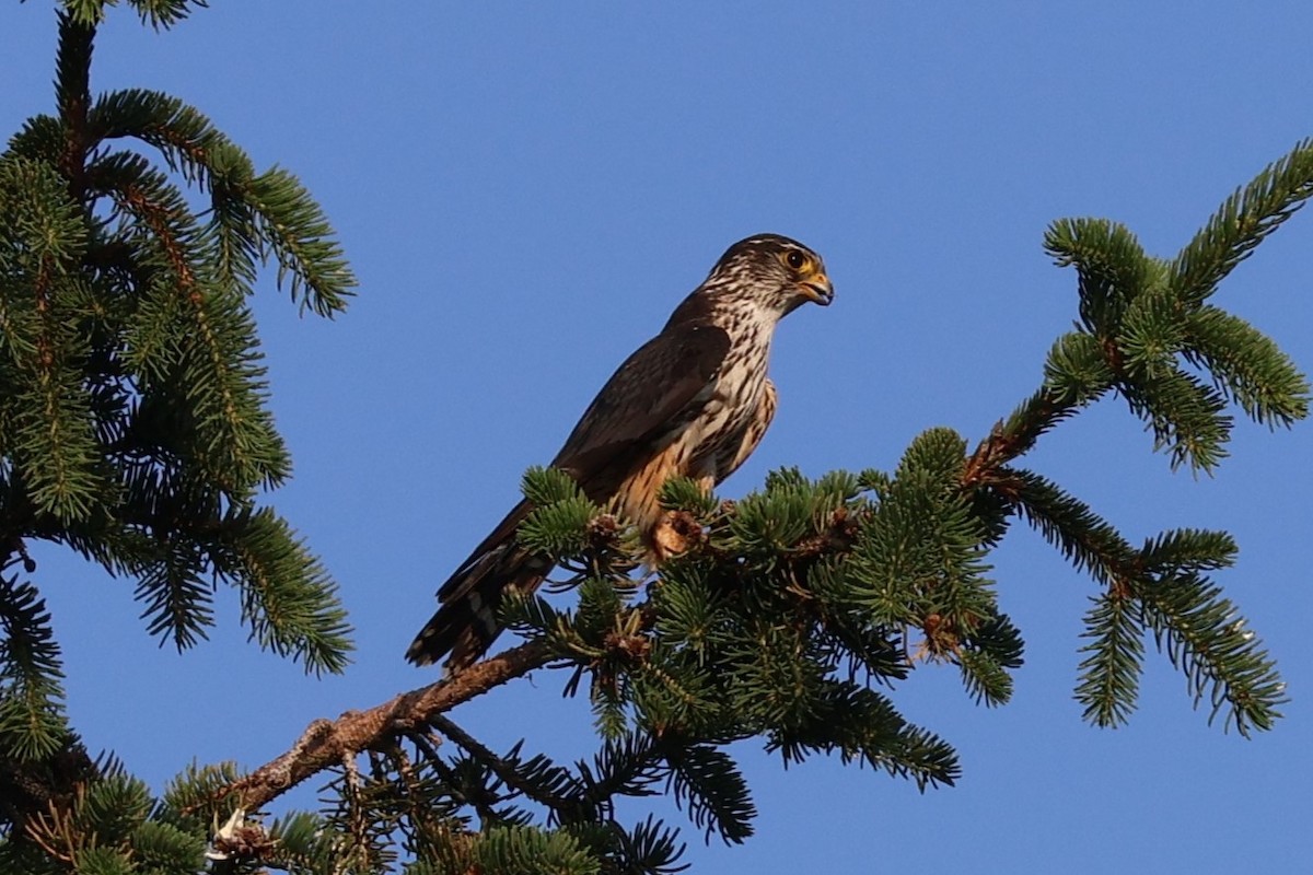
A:
<svg viewBox="0 0 1313 875">
<path fill-rule="evenodd" d="M 834 300 L 821 256 L 777 234 L 759 234 L 726 249 L 704 287 L 722 300 L 750 300 L 776 317 L 807 302 L 827 307 Z"/>
</svg>

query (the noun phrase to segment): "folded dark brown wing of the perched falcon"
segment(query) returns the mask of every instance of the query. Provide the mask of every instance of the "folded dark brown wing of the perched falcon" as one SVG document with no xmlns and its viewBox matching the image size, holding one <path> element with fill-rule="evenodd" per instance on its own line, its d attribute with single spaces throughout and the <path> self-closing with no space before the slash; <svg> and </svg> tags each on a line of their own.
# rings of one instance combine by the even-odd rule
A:
<svg viewBox="0 0 1313 875">
<path fill-rule="evenodd" d="M 609 497 L 595 493 L 613 488 L 605 481 L 624 476 L 643 450 L 705 403 L 729 349 L 730 336 L 710 323 L 685 323 L 653 337 L 601 387 L 551 464 L 570 472 L 593 500 Z"/>
</svg>

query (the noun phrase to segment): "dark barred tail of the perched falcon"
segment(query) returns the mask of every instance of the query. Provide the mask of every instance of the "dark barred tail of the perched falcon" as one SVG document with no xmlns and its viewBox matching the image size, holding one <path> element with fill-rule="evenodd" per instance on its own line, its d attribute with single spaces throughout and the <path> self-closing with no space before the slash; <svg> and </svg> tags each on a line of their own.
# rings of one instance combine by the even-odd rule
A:
<svg viewBox="0 0 1313 875">
<path fill-rule="evenodd" d="M 529 510 L 528 501 L 516 505 L 442 584 L 437 590 L 441 607 L 406 651 L 408 661 L 431 665 L 446 656 L 445 674 L 452 676 L 492 645 L 502 632 L 502 594 L 512 589 L 533 592 L 551 571 L 548 560 L 515 542 L 515 530 Z"/>
</svg>

